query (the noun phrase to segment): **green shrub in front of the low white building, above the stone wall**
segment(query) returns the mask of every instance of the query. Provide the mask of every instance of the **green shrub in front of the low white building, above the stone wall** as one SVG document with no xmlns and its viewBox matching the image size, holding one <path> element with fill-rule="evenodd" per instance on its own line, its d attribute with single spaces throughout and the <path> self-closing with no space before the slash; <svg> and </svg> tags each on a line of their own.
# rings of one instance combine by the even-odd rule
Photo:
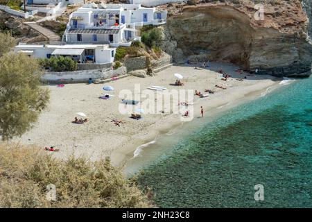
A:
<svg viewBox="0 0 312 222">
<path fill-rule="evenodd" d="M 52 56 L 47 59 L 40 59 L 40 66 L 42 68 L 49 67 L 51 71 L 76 71 L 77 62 L 69 57 Z"/>
</svg>

